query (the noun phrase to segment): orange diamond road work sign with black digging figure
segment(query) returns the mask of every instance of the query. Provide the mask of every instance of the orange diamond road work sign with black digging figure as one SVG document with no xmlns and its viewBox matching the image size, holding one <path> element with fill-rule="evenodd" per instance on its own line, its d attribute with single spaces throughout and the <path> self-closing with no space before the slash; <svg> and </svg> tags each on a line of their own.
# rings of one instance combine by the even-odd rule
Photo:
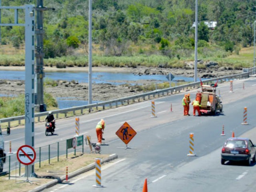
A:
<svg viewBox="0 0 256 192">
<path fill-rule="evenodd" d="M 127 145 L 136 135 L 136 131 L 125 122 L 116 132 L 116 135 Z"/>
</svg>

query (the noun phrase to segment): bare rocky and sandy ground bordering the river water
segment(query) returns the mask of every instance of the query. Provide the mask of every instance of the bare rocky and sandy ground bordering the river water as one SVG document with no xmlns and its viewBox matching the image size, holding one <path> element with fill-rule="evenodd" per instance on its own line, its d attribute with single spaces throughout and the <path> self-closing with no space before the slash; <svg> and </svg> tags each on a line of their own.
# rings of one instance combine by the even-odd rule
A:
<svg viewBox="0 0 256 192">
<path fill-rule="evenodd" d="M 5 67 L 0 66 L 0 70 L 24 70 L 24 67 Z M 87 71 L 88 68 L 55 68 L 55 67 L 45 67 L 45 71 Z M 136 75 L 142 74 L 163 74 L 167 75 L 172 73 L 175 75 L 182 75 L 192 77 L 194 75 L 193 69 L 176 69 L 176 68 L 112 68 L 112 67 L 93 67 L 94 72 L 131 72 Z M 230 70 L 219 68 L 207 68 L 205 70 L 198 70 L 198 75 L 201 77 L 214 78 L 217 76 L 224 76 L 230 74 L 241 73 L 242 70 Z M 139 80 L 139 81 L 127 81 L 123 80 L 126 84 L 152 84 L 156 81 L 154 80 Z M 52 94 L 54 97 L 69 97 L 74 100 L 87 100 L 88 99 L 88 83 L 72 83 L 72 82 L 58 82 L 58 86 L 44 87 L 45 91 Z M 24 81 L 20 80 L 0 80 L 0 94 L 4 95 L 18 95 L 24 93 L 25 85 Z M 92 97 L 93 100 L 106 101 L 127 96 L 132 96 L 136 94 L 143 93 L 138 91 L 132 86 L 124 85 L 112 85 L 112 84 L 93 84 L 92 85 Z"/>
</svg>

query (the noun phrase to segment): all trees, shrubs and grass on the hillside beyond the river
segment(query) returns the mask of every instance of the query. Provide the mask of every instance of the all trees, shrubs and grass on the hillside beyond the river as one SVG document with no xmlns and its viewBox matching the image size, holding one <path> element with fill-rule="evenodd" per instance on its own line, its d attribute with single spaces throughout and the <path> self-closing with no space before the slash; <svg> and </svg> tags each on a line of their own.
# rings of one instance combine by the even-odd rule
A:
<svg viewBox="0 0 256 192">
<path fill-rule="evenodd" d="M 26 3 L 2 0 L 2 6 Z M 36 0 L 30 3 L 36 4 Z M 199 0 L 198 59 L 218 61 L 220 66 L 236 64 L 225 58 L 252 45 L 255 4 L 256 0 Z M 56 8 L 44 12 L 45 64 L 59 68 L 86 66 L 88 0 L 46 1 L 44 5 Z M 19 22 L 24 22 L 24 12 L 19 15 Z M 4 10 L 1 20 L 12 22 L 11 11 Z M 194 20 L 194 0 L 94 0 L 93 65 L 183 66 L 194 60 Z M 217 22 L 216 28 L 205 23 L 211 21 Z M 23 27 L 1 27 L 1 32 L 2 45 L 11 44 L 16 49 L 24 46 Z M 24 65 L 24 56 L 1 54 L 0 65 Z M 252 61 L 240 66 L 252 66 Z"/>
</svg>

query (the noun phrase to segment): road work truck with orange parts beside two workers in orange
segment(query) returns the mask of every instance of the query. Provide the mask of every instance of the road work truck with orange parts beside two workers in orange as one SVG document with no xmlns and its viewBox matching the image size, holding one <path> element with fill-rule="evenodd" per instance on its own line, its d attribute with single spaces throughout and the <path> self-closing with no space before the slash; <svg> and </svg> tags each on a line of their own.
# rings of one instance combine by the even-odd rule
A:
<svg viewBox="0 0 256 192">
<path fill-rule="evenodd" d="M 222 112 L 223 106 L 221 97 L 216 94 L 217 84 L 201 86 L 202 91 L 196 93 L 196 100 L 198 100 L 200 104 L 200 112 L 212 115 L 215 115 L 217 112 Z"/>
</svg>

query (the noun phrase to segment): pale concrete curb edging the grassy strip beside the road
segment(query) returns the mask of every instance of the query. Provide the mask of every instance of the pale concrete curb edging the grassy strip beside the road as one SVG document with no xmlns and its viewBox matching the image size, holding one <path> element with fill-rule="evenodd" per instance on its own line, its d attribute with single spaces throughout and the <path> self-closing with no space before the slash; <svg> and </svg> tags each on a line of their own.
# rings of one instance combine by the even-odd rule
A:
<svg viewBox="0 0 256 192">
<path fill-rule="evenodd" d="M 108 158 L 103 159 L 102 160 L 102 164 L 104 164 L 106 162 L 109 162 L 111 160 L 114 160 L 116 158 L 118 158 L 117 154 L 112 154 Z M 72 178 L 72 177 L 77 176 L 79 174 L 82 174 L 84 172 L 90 171 L 90 170 L 92 170 L 94 168 L 95 168 L 95 163 L 92 163 L 92 164 L 90 164 L 90 165 L 88 165 L 86 167 L 80 168 L 80 169 L 70 173 L 68 175 L 68 178 Z M 40 192 L 40 191 L 42 191 L 42 190 L 44 190 L 46 188 L 49 188 L 51 186 L 54 186 L 54 185 L 56 185 L 58 183 L 63 182 L 65 179 L 66 179 L 66 176 L 62 176 L 59 179 L 54 179 L 54 180 L 52 180 L 52 181 L 50 181 L 50 182 L 48 182 L 48 183 L 46 183 L 44 185 L 41 185 L 41 186 L 39 186 L 39 187 L 37 187 L 37 188 L 35 188 L 33 190 L 30 190 L 29 192 Z"/>
</svg>

